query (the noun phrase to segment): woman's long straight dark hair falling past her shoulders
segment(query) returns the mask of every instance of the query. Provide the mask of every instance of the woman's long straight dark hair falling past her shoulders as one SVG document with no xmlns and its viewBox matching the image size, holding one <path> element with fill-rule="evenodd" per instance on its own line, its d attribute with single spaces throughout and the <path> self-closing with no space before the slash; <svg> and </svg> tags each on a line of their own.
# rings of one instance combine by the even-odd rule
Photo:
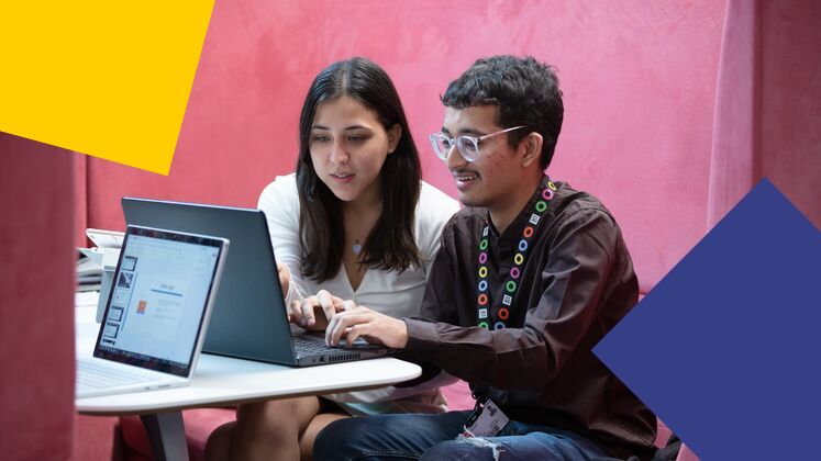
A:
<svg viewBox="0 0 821 461">
<path fill-rule="evenodd" d="M 345 236 L 342 201 L 313 169 L 311 126 L 317 108 L 322 102 L 343 95 L 376 112 L 386 131 L 397 123 L 402 127 L 399 144 L 387 156 L 377 179 L 381 181 L 382 211 L 363 245 L 359 262 L 398 271 L 420 265 L 419 248 L 413 238 L 413 215 L 422 180 L 419 153 L 404 117 L 402 102 L 388 75 L 375 63 L 354 57 L 334 63 L 317 76 L 299 117 L 297 187 L 301 271 L 320 283 L 335 277 L 342 268 Z"/>
</svg>

